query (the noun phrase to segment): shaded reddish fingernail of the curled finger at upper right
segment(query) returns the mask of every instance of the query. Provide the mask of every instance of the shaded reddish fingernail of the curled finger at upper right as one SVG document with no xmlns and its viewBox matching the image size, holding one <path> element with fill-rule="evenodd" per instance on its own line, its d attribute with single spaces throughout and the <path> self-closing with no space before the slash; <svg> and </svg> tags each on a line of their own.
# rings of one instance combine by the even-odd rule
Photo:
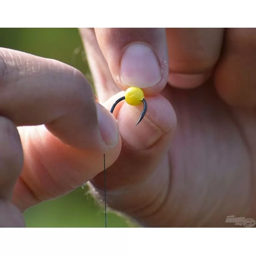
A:
<svg viewBox="0 0 256 256">
<path fill-rule="evenodd" d="M 195 88 L 201 85 L 209 77 L 209 74 L 178 74 L 170 73 L 168 82 L 178 88 Z"/>
</svg>

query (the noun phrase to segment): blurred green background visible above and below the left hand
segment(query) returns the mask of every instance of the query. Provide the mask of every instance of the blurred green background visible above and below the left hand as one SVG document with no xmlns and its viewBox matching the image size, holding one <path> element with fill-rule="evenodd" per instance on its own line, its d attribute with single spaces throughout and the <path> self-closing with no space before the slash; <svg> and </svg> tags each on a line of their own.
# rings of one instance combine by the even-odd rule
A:
<svg viewBox="0 0 256 256">
<path fill-rule="evenodd" d="M 84 73 L 92 83 L 76 28 L 0 28 L 0 47 L 56 59 Z M 24 213 L 27 227 L 105 227 L 104 209 L 77 188 L 61 198 L 43 202 Z M 108 213 L 108 227 L 133 227 L 132 223 Z"/>
</svg>

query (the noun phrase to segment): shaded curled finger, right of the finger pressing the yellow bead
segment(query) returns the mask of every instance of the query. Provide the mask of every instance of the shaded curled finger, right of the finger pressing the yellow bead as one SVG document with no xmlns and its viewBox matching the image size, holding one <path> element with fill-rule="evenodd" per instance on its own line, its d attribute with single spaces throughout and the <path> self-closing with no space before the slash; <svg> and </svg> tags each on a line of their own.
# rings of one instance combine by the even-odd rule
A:
<svg viewBox="0 0 256 256">
<path fill-rule="evenodd" d="M 202 85 L 219 60 L 224 29 L 167 28 L 168 83 L 191 89 Z"/>
</svg>

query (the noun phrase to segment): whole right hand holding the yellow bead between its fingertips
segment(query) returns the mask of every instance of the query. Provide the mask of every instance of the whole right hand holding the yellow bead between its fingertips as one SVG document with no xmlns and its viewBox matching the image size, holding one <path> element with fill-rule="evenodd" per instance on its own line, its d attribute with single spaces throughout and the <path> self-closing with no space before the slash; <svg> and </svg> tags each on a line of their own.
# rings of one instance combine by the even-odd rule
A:
<svg viewBox="0 0 256 256">
<path fill-rule="evenodd" d="M 80 31 L 99 102 L 110 109 L 128 86 L 148 102 L 136 127 L 137 108 L 115 113 L 122 150 L 107 169 L 108 205 L 144 226 L 256 219 L 255 30 Z M 91 183 L 103 196 L 103 174 Z"/>
</svg>

